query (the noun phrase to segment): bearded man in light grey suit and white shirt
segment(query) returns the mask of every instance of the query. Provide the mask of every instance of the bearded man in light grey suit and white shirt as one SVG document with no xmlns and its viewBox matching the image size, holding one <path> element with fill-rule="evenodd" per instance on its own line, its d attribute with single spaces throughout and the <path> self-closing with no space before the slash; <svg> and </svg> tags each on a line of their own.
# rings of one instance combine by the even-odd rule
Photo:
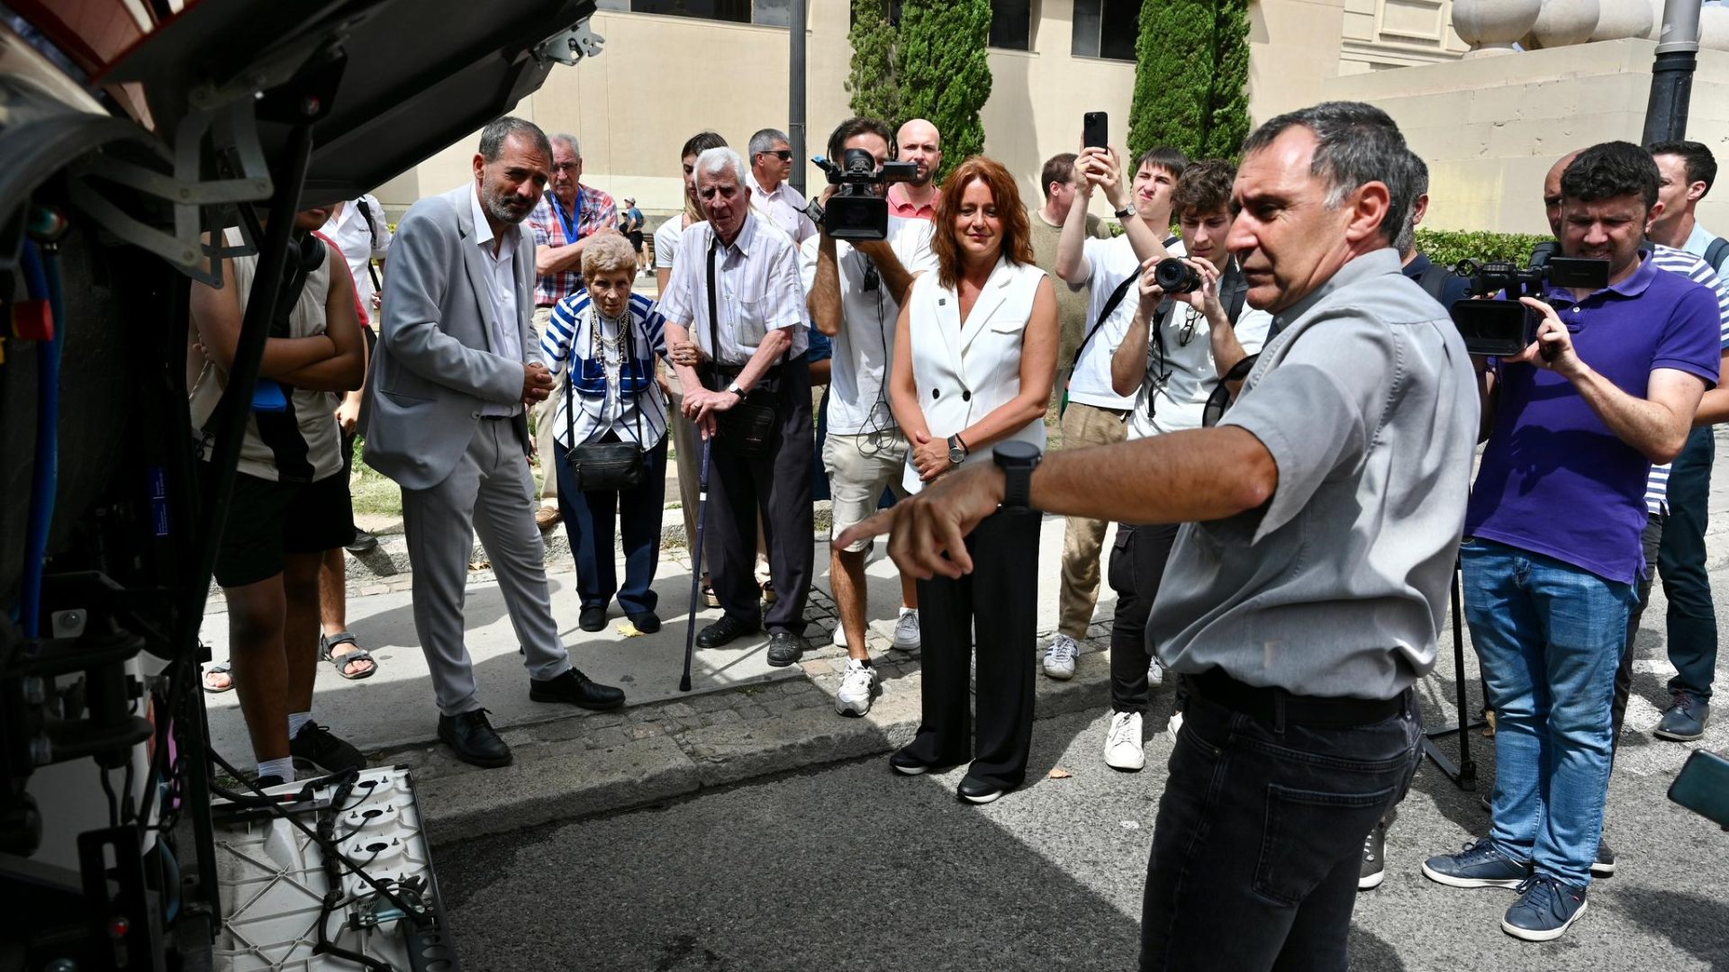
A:
<svg viewBox="0 0 1729 972">
<path fill-rule="evenodd" d="M 553 380 L 529 325 L 534 237 L 522 220 L 550 169 L 546 135 L 500 118 L 481 133 L 474 182 L 408 209 L 391 249 L 367 384 L 367 464 L 403 488 L 415 631 L 432 671 L 437 735 L 475 766 L 510 763 L 463 645 L 475 533 L 522 643 L 529 697 L 584 709 L 624 704 L 624 692 L 571 668 L 534 528 L 526 406 L 545 400 Z"/>
</svg>

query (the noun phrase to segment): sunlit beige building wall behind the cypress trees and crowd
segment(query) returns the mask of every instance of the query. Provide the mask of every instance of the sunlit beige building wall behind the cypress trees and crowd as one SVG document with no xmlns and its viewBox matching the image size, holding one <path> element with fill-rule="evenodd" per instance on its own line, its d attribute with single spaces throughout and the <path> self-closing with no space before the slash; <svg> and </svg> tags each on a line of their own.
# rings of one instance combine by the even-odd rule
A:
<svg viewBox="0 0 1729 972">
<path fill-rule="evenodd" d="M 1264 119 L 1312 104 L 1323 97 L 1324 81 L 1340 73 L 1456 59 L 1464 45 L 1451 29 L 1451 2 L 1254 2 L 1252 116 Z M 1098 21 L 1110 7 L 1117 3 L 1032 0 L 1027 50 L 991 48 L 986 152 L 1020 178 L 1029 197 L 1039 192 L 1044 159 L 1079 145 L 1082 112 L 1108 112 L 1113 144 L 1120 145 L 1127 133 L 1132 61 L 1075 54 L 1098 45 L 1082 35 L 1108 29 L 1112 24 Z M 849 9 L 845 0 L 807 0 L 807 154 L 821 152 L 828 131 L 851 114 Z M 600 10 L 591 28 L 605 38 L 602 55 L 553 67 L 517 114 L 546 131 L 576 135 L 583 182 L 617 199 L 636 199 L 650 221 L 679 206 L 678 150 L 690 135 L 712 128 L 742 149 L 759 128 L 787 128 L 787 28 L 622 10 Z M 427 159 L 380 187 L 380 201 L 399 211 L 469 178 L 474 145 L 474 137 L 463 138 Z M 821 185 L 821 178 L 816 166 L 807 166 L 807 187 Z"/>
</svg>

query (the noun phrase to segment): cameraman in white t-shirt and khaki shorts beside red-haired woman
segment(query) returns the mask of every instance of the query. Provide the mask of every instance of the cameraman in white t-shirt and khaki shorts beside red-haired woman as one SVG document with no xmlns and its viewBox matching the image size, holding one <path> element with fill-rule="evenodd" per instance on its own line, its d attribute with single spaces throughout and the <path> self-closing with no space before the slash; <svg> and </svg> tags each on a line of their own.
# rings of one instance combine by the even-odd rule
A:
<svg viewBox="0 0 1729 972">
<path fill-rule="evenodd" d="M 828 137 L 828 157 L 845 159 L 849 152 L 868 152 L 873 171 L 882 171 L 894 156 L 889 126 L 875 118 L 849 118 Z M 856 156 L 854 156 L 856 157 Z M 870 189 L 880 199 L 889 183 Z M 823 190 L 821 206 L 832 206 L 840 185 Z M 887 204 L 884 202 L 884 211 Z M 801 247 L 801 272 L 811 320 L 835 342 L 828 393 L 828 436 L 821 462 L 828 470 L 833 496 L 835 533 L 877 512 L 882 491 L 901 489 L 908 443 L 889 405 L 889 367 L 894 361 L 894 325 L 901 303 L 913 285 L 913 273 L 935 266 L 930 249 L 932 221 L 887 216 L 887 239 L 837 240 L 823 220 L 816 239 Z M 877 687 L 877 669 L 864 645 L 864 557 L 870 541 L 830 552 L 830 579 L 840 624 L 835 643 L 847 649 L 847 668 L 840 676 L 835 709 L 863 716 L 870 711 Z M 894 647 L 916 649 L 918 588 L 913 578 L 901 578 L 901 616 L 894 626 Z"/>
</svg>

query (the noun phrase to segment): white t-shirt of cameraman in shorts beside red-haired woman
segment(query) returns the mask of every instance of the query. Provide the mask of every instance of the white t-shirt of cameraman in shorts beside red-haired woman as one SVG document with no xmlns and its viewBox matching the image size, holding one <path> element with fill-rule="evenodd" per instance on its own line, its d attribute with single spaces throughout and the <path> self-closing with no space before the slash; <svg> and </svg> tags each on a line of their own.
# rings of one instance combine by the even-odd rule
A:
<svg viewBox="0 0 1729 972">
<path fill-rule="evenodd" d="M 904 220 L 889 216 L 889 247 L 908 273 L 937 268 L 937 254 L 930 249 L 934 232 L 930 220 Z M 799 277 L 804 292 L 816 284 L 816 251 L 821 235 L 804 240 L 799 247 Z M 828 391 L 828 434 L 859 436 L 894 427 L 889 410 L 885 375 L 894 361 L 894 325 L 901 317 L 901 301 L 880 282 L 866 291 L 866 265 L 870 259 L 852 244 L 835 240 L 835 263 L 840 275 L 840 334 L 835 336 L 833 370 Z M 880 273 L 877 275 L 880 278 Z"/>
</svg>

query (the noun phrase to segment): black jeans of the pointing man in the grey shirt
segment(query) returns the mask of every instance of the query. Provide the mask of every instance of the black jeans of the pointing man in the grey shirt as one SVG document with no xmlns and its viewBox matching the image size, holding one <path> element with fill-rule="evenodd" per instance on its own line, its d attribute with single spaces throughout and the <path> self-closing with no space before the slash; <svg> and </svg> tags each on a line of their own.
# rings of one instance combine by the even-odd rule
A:
<svg viewBox="0 0 1729 972">
<path fill-rule="evenodd" d="M 1141 901 L 1141 969 L 1345 969 L 1362 839 L 1420 759 L 1404 711 L 1352 728 L 1276 725 L 1188 680 Z"/>
</svg>

